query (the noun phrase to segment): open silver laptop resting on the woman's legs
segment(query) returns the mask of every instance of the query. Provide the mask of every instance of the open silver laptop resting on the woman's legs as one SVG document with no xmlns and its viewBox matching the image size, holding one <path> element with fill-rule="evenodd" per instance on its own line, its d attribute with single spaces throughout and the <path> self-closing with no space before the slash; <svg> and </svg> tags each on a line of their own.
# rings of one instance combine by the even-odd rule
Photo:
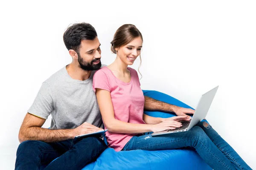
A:
<svg viewBox="0 0 256 170">
<path fill-rule="evenodd" d="M 164 135 L 168 133 L 177 133 L 177 132 L 186 132 L 190 130 L 193 126 L 201 122 L 201 120 L 205 119 L 207 112 L 212 104 L 212 100 L 218 90 L 218 86 L 208 91 L 206 94 L 203 94 L 198 102 L 198 105 L 195 109 L 195 113 L 192 116 L 190 121 L 183 121 L 181 127 L 177 127 L 173 130 L 164 130 L 161 132 L 154 132 L 152 136 Z"/>
</svg>

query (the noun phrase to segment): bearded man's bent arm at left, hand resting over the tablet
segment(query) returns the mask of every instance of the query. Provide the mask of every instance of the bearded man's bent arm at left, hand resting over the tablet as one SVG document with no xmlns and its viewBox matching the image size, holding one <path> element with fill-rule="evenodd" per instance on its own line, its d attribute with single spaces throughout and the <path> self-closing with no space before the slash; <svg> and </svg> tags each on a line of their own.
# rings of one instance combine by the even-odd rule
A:
<svg viewBox="0 0 256 170">
<path fill-rule="evenodd" d="M 43 142 L 59 142 L 67 139 L 74 139 L 75 136 L 96 132 L 102 130 L 84 122 L 75 129 L 58 129 L 50 130 L 42 128 L 46 119 L 27 113 L 20 127 L 19 141 L 20 143 L 27 140 L 37 140 Z"/>
</svg>

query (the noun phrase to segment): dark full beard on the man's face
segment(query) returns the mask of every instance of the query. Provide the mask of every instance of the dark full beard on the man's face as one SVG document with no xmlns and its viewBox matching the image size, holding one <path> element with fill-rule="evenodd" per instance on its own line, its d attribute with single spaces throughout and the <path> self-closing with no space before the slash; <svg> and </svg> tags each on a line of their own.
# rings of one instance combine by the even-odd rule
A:
<svg viewBox="0 0 256 170">
<path fill-rule="evenodd" d="M 84 71 L 93 71 L 93 70 L 99 70 L 101 68 L 101 61 L 100 59 L 93 59 L 90 62 L 85 62 L 84 59 L 78 54 L 78 62 L 79 62 L 79 67 L 83 69 Z M 98 64 L 93 64 L 93 62 L 98 61 Z"/>
</svg>

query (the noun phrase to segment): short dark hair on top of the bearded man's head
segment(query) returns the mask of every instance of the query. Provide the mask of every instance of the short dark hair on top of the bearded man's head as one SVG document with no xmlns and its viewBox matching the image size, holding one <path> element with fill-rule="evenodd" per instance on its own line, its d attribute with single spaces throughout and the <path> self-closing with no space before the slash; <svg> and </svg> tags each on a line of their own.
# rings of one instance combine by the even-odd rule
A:
<svg viewBox="0 0 256 170">
<path fill-rule="evenodd" d="M 67 50 L 72 49 L 78 54 L 81 40 L 94 40 L 96 37 L 96 30 L 89 23 L 73 24 L 63 34 L 63 40 Z"/>
</svg>

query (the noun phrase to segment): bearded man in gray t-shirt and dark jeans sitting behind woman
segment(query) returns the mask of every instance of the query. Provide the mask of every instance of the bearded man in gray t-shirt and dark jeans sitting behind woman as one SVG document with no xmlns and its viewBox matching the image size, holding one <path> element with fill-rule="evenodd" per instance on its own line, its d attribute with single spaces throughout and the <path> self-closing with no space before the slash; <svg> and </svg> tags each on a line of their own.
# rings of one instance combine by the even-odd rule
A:
<svg viewBox="0 0 256 170">
<path fill-rule="evenodd" d="M 102 139 L 93 136 L 73 141 L 75 136 L 103 127 L 92 88 L 93 75 L 101 68 L 97 33 L 90 24 L 77 23 L 67 28 L 63 39 L 73 60 L 43 82 L 29 108 L 20 127 L 16 170 L 36 170 L 41 166 L 47 166 L 46 170 L 79 170 L 107 148 Z M 177 115 L 194 113 L 149 97 L 145 97 L 145 109 Z M 50 129 L 42 128 L 50 114 Z"/>
</svg>

